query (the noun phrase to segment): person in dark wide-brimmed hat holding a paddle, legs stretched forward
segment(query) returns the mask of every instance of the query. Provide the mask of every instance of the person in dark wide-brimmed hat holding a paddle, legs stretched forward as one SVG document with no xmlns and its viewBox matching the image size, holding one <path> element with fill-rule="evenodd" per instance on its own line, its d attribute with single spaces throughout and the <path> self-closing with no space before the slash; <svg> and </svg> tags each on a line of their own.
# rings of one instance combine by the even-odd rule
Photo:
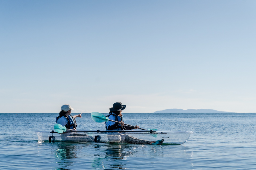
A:
<svg viewBox="0 0 256 170">
<path fill-rule="evenodd" d="M 125 107 L 126 106 L 123 105 L 121 102 L 116 102 L 113 104 L 113 107 L 109 108 L 110 112 L 109 112 L 109 115 L 107 115 L 106 117 L 108 117 L 108 119 L 110 119 L 110 120 L 121 122 L 121 125 L 116 122 L 108 121 L 108 122 L 106 122 L 107 130 L 132 130 L 132 129 L 140 128 L 137 125 L 136 125 L 136 128 L 124 125 L 124 118 L 122 115 L 122 111 L 125 109 Z M 125 132 L 124 133 L 120 133 L 120 132 L 109 133 L 108 132 L 109 140 L 111 140 L 111 135 L 114 135 L 114 136 L 120 135 L 121 141 L 123 141 L 125 143 L 129 143 L 129 144 L 162 144 L 164 142 L 164 139 L 159 140 L 159 141 L 140 140 L 135 137 L 125 135 Z"/>
</svg>

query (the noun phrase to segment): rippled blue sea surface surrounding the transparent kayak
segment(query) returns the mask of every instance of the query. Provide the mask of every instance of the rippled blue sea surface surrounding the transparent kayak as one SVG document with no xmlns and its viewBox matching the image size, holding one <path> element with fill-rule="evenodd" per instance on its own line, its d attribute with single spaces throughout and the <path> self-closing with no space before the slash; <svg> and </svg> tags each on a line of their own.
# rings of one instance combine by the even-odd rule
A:
<svg viewBox="0 0 256 170">
<path fill-rule="evenodd" d="M 254 113 L 123 113 L 141 128 L 193 131 L 182 145 L 38 142 L 58 115 L 0 114 L 0 169 L 256 169 Z M 102 129 L 88 113 L 76 122 Z"/>
</svg>

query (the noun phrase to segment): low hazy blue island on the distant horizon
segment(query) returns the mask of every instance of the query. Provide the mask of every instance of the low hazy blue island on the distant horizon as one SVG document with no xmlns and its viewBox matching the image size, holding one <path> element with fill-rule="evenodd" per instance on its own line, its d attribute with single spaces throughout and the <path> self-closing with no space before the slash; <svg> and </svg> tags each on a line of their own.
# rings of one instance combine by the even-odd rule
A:
<svg viewBox="0 0 256 170">
<path fill-rule="evenodd" d="M 222 112 L 222 111 L 213 110 L 213 109 L 188 109 L 188 110 L 165 109 L 165 110 L 156 111 L 154 113 L 234 113 L 234 112 Z"/>
</svg>

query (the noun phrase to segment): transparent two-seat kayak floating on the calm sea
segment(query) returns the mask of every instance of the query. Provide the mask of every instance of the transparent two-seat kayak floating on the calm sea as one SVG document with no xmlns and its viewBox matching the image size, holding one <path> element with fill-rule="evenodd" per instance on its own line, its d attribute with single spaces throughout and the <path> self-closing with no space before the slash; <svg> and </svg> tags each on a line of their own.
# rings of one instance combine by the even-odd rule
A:
<svg viewBox="0 0 256 170">
<path fill-rule="evenodd" d="M 191 131 L 144 131 L 144 130 L 88 130 L 67 131 L 57 133 L 56 131 L 36 132 L 38 142 L 78 142 L 78 143 L 130 143 L 144 144 L 148 141 L 163 141 L 163 144 L 184 144 Z M 131 140 L 127 140 L 131 139 Z M 163 140 L 164 139 L 164 140 Z M 132 142 L 131 142 L 132 141 Z M 135 142 L 134 142 L 135 141 Z M 138 142 L 136 142 L 138 141 Z M 142 143 L 141 143 L 142 142 Z M 146 144 L 145 143 L 145 144 Z"/>
</svg>

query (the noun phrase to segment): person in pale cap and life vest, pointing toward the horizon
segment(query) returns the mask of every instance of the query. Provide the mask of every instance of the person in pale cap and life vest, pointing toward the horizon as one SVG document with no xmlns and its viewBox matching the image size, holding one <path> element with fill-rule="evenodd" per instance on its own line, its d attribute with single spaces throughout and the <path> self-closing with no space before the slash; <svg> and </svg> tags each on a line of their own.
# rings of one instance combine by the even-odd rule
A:
<svg viewBox="0 0 256 170">
<path fill-rule="evenodd" d="M 61 126 L 65 126 L 67 129 L 76 130 L 76 118 L 82 117 L 82 113 L 79 115 L 72 116 L 71 110 L 74 110 L 70 107 L 69 104 L 65 104 L 61 106 L 61 111 L 58 117 L 56 117 L 56 123 L 61 124 Z"/>
</svg>

